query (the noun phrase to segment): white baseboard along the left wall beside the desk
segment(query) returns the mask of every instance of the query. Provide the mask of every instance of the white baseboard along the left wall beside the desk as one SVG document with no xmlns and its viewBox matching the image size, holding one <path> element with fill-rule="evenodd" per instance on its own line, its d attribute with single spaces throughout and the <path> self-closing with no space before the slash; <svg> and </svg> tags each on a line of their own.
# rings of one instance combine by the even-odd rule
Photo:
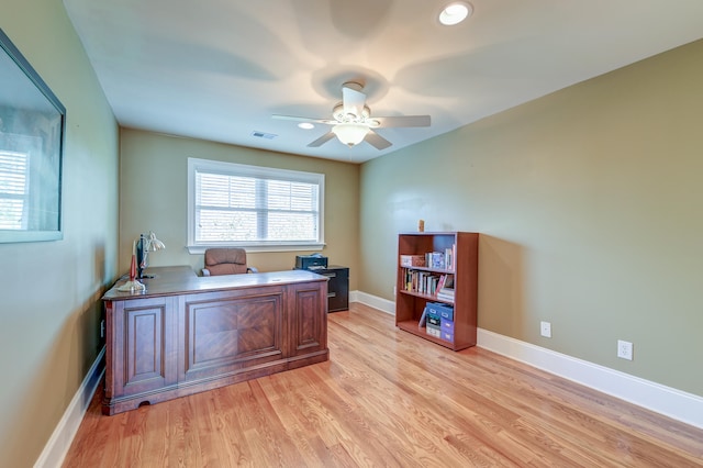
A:
<svg viewBox="0 0 703 468">
<path fill-rule="evenodd" d="M 80 423 L 86 415 L 86 411 L 96 393 L 100 379 L 102 379 L 102 375 L 105 371 L 104 354 L 105 348 L 103 347 L 68 404 L 64 416 L 58 422 L 44 450 L 42 450 L 42 454 L 34 464 L 35 468 L 60 467 L 64 463 L 64 458 L 70 448 L 71 442 L 74 442 L 78 427 L 80 427 Z"/>
</svg>

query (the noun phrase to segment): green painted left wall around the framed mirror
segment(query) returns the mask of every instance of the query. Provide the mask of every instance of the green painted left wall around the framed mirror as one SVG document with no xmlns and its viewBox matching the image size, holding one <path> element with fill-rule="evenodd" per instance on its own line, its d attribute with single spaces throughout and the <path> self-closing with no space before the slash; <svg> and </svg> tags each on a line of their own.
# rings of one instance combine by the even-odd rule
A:
<svg viewBox="0 0 703 468">
<path fill-rule="evenodd" d="M 118 125 L 60 1 L 3 0 L 0 27 L 66 107 L 64 239 L 0 244 L 0 459 L 32 466 L 98 356 L 116 275 Z"/>
</svg>

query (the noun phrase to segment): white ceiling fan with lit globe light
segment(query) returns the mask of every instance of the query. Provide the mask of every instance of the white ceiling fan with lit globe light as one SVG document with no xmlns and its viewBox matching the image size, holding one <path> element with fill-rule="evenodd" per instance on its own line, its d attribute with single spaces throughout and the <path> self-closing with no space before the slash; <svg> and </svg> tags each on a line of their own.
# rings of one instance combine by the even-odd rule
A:
<svg viewBox="0 0 703 468">
<path fill-rule="evenodd" d="M 376 129 L 400 126 L 429 126 L 429 115 L 373 116 L 366 105 L 364 87 L 358 82 L 348 81 L 342 85 L 342 102 L 332 110 L 333 119 L 311 119 L 294 115 L 277 115 L 274 119 L 292 120 L 299 122 L 324 123 L 332 125 L 332 130 L 308 146 L 317 147 L 335 136 L 347 146 L 355 146 L 366 141 L 377 149 L 386 149 L 392 145 L 375 132 Z"/>
</svg>

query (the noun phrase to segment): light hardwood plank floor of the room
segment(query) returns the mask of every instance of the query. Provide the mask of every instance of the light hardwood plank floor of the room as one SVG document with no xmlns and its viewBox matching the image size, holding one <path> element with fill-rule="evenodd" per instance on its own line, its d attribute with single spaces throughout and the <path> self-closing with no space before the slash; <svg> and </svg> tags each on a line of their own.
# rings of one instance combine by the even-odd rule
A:
<svg viewBox="0 0 703 468">
<path fill-rule="evenodd" d="M 692 467 L 703 431 L 352 304 L 331 360 L 103 416 L 65 467 Z"/>
</svg>

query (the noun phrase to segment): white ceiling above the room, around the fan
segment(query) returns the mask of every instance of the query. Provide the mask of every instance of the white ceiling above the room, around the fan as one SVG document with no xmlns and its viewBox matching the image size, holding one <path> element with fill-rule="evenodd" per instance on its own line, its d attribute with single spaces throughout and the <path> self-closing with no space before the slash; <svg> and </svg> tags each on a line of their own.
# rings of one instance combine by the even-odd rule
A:
<svg viewBox="0 0 703 468">
<path fill-rule="evenodd" d="M 123 126 L 361 163 L 703 37 L 701 0 L 64 0 Z M 271 114 L 331 118 L 347 80 L 393 143 L 308 143 Z M 254 132 L 278 135 L 274 140 Z"/>
</svg>

